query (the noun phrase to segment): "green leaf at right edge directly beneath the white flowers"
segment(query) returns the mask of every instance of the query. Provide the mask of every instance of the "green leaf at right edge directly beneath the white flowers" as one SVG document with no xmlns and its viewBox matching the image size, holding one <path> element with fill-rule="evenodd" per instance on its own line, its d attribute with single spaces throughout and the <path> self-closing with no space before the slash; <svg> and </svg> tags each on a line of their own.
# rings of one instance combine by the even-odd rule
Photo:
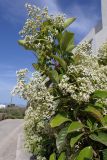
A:
<svg viewBox="0 0 107 160">
<path fill-rule="evenodd" d="M 107 98 L 107 91 L 97 90 L 92 95 L 93 98 Z"/>
</svg>

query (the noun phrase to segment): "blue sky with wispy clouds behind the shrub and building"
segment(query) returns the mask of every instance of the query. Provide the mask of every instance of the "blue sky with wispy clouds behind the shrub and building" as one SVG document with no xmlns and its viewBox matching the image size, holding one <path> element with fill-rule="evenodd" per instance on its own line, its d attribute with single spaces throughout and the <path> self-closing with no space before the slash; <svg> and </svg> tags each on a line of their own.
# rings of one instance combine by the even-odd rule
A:
<svg viewBox="0 0 107 160">
<path fill-rule="evenodd" d="M 16 84 L 16 70 L 28 68 L 33 71 L 35 57 L 20 47 L 19 31 L 23 27 L 27 13 L 24 4 L 39 7 L 48 6 L 53 14 L 65 13 L 67 17 L 77 17 L 69 28 L 75 33 L 78 43 L 101 18 L 100 0 L 0 0 L 0 103 L 10 103 L 10 91 Z M 13 98 L 13 103 L 24 104 Z"/>
</svg>

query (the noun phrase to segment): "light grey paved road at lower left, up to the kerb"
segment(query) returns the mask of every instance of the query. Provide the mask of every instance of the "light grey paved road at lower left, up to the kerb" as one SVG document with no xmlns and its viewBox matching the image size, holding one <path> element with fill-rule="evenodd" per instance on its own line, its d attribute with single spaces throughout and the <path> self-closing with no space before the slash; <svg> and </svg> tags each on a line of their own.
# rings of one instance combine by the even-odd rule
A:
<svg viewBox="0 0 107 160">
<path fill-rule="evenodd" d="M 15 160 L 18 135 L 22 132 L 23 120 L 0 121 L 0 160 Z"/>
</svg>

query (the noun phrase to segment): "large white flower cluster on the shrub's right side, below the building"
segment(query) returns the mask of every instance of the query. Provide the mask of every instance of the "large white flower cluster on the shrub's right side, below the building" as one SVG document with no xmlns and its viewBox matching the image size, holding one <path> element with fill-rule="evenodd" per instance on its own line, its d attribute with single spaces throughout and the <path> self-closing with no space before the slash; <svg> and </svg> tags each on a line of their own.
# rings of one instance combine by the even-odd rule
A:
<svg viewBox="0 0 107 160">
<path fill-rule="evenodd" d="M 97 57 L 87 54 L 88 45 L 83 46 L 77 48 L 74 63 L 68 66 L 59 84 L 63 94 L 69 94 L 78 103 L 88 102 L 95 90 L 107 90 L 107 66 L 100 66 Z"/>
</svg>

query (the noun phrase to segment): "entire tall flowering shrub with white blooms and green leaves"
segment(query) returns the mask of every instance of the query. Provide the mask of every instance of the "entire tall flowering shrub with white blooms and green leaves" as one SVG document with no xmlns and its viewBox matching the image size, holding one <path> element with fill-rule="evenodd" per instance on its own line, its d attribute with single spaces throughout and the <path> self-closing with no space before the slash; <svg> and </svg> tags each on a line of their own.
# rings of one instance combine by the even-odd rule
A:
<svg viewBox="0 0 107 160">
<path fill-rule="evenodd" d="M 75 18 L 26 5 L 19 44 L 32 50 L 38 72 L 17 72 L 14 94 L 26 99 L 25 146 L 38 160 L 107 159 L 107 65 L 87 42 L 74 49 L 66 28 Z M 105 46 L 104 46 L 105 47 Z M 102 49 L 103 51 L 103 49 Z M 106 51 L 102 52 L 106 54 Z"/>
</svg>

